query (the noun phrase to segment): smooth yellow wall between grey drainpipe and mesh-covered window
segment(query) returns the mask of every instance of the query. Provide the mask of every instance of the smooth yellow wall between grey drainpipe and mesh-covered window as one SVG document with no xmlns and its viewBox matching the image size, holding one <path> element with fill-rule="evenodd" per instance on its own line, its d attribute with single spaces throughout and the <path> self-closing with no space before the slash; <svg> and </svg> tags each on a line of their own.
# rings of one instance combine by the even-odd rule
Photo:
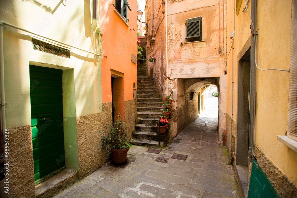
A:
<svg viewBox="0 0 297 198">
<path fill-rule="evenodd" d="M 257 7 L 258 66 L 290 69 L 291 1 L 259 1 Z M 257 69 L 255 143 L 297 184 L 297 153 L 277 140 L 287 131 L 288 96 L 289 72 Z"/>
</svg>

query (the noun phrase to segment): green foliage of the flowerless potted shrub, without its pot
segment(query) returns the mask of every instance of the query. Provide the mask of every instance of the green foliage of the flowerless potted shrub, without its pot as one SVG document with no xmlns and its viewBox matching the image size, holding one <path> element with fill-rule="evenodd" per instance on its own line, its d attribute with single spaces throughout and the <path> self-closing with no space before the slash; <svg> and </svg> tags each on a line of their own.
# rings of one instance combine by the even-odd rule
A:
<svg viewBox="0 0 297 198">
<path fill-rule="evenodd" d="M 109 132 L 101 137 L 102 148 L 103 149 L 127 149 L 132 147 L 130 143 L 127 142 L 128 133 L 126 131 L 125 122 L 123 118 L 120 118 L 120 113 L 115 117 L 116 122 L 109 124 Z M 106 129 L 108 126 L 106 126 Z M 101 132 L 99 132 L 101 134 Z"/>
</svg>

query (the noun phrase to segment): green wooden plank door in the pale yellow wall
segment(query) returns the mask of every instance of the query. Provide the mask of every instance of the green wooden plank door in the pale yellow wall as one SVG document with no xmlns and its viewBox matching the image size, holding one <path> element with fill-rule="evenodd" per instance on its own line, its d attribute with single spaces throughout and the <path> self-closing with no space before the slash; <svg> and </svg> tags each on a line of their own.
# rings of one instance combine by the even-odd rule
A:
<svg viewBox="0 0 297 198">
<path fill-rule="evenodd" d="M 35 185 L 65 168 L 62 70 L 30 65 Z"/>
</svg>

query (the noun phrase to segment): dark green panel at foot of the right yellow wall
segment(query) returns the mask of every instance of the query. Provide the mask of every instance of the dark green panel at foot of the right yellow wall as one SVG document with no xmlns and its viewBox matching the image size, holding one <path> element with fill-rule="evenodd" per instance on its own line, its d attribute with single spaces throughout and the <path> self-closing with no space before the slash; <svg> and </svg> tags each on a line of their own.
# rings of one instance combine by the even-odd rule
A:
<svg viewBox="0 0 297 198">
<path fill-rule="evenodd" d="M 248 198 L 279 198 L 279 195 L 262 171 L 257 161 L 253 160 Z"/>
</svg>

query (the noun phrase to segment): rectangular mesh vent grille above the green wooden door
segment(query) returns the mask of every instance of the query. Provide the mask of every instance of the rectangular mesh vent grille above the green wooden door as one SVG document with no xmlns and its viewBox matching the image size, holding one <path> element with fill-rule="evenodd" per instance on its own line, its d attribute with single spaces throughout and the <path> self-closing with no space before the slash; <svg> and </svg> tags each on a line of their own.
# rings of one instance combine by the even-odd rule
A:
<svg viewBox="0 0 297 198">
<path fill-rule="evenodd" d="M 49 43 L 46 43 L 37 39 L 32 39 L 32 43 L 33 43 L 34 50 L 50 53 L 56 56 L 70 58 L 70 50 L 67 50 L 55 45 L 51 45 Z"/>
</svg>

